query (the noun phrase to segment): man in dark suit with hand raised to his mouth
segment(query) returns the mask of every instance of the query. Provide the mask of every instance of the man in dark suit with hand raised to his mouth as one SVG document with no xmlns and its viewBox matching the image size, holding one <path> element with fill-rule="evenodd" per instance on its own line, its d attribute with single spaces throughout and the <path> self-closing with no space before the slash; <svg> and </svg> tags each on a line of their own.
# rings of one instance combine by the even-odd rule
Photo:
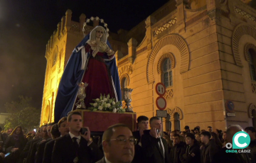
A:
<svg viewBox="0 0 256 163">
<path fill-rule="evenodd" d="M 144 162 L 168 163 L 168 145 L 166 140 L 160 137 L 162 128 L 160 118 L 150 118 L 149 125 L 151 130 L 145 130 L 144 135 L 142 135 L 142 151 L 144 153 Z"/>
</svg>

